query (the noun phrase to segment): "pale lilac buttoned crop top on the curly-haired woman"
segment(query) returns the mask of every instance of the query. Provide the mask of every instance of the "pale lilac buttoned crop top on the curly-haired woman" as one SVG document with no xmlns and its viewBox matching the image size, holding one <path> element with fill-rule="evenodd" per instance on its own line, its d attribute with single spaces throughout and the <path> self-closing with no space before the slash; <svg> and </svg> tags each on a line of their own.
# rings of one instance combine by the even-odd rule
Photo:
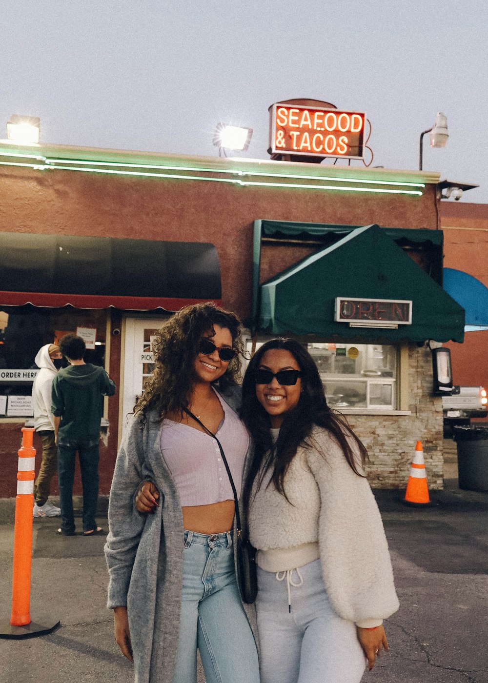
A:
<svg viewBox="0 0 488 683">
<path fill-rule="evenodd" d="M 217 396 L 224 412 L 217 438 L 226 454 L 239 498 L 249 434 L 234 410 L 218 393 Z M 188 425 L 165 419 L 161 432 L 161 451 L 173 475 L 182 507 L 234 500 L 215 438 Z"/>
</svg>

